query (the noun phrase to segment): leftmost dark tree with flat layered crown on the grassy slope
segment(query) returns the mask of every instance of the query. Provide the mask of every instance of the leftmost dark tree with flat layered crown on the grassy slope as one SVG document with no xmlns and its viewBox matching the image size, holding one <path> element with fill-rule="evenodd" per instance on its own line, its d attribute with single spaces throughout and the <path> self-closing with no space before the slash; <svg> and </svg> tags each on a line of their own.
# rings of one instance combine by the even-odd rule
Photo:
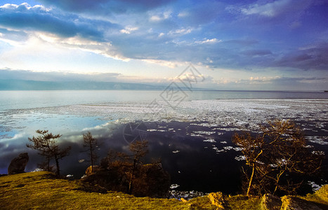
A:
<svg viewBox="0 0 328 210">
<path fill-rule="evenodd" d="M 28 138 L 32 144 L 26 144 L 28 148 L 39 151 L 39 155 L 46 157 L 46 169 L 51 172 L 51 159 L 55 160 L 56 174 L 60 176 L 59 160 L 70 153 L 71 147 L 60 149 L 57 145 L 57 139 L 61 137 L 60 134 L 53 135 L 48 130 L 37 130 L 39 137 Z"/>
</svg>

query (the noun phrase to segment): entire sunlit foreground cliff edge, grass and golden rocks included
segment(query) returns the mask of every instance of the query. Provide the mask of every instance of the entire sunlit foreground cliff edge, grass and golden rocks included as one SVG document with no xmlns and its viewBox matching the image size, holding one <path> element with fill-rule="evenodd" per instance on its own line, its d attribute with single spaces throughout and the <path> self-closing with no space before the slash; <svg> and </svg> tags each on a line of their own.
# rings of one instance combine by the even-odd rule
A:
<svg viewBox="0 0 328 210">
<path fill-rule="evenodd" d="M 0 209 L 328 209 L 328 185 L 306 197 L 211 193 L 178 201 L 104 192 L 49 172 L 30 172 L 0 177 Z"/>
</svg>

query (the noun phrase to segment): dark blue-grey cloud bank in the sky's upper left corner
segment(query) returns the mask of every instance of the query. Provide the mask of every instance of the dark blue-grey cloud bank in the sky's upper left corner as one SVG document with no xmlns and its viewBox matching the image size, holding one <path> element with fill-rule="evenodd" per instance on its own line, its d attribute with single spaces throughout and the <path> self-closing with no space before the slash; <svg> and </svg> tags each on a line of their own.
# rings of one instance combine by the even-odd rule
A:
<svg viewBox="0 0 328 210">
<path fill-rule="evenodd" d="M 53 13 L 41 6 L 31 7 L 27 4 L 20 6 L 3 6 L 0 8 L 0 26 L 8 29 L 23 29 L 26 31 L 44 31 L 67 38 L 81 36 L 95 41 L 104 41 L 103 33 L 95 25 L 115 27 L 110 22 L 86 20 L 76 15 Z"/>
</svg>

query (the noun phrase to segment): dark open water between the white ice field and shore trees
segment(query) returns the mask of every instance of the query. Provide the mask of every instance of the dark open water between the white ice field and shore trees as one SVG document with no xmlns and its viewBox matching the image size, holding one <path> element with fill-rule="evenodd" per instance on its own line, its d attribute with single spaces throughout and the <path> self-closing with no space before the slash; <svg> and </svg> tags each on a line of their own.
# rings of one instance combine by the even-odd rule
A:
<svg viewBox="0 0 328 210">
<path fill-rule="evenodd" d="M 87 127 L 85 124 L 88 123 L 84 120 L 89 122 Z M 164 169 L 171 174 L 171 182 L 180 186 L 177 190 L 220 190 L 225 193 L 236 193 L 240 190 L 240 167 L 243 162 L 236 158 L 241 154 L 239 148 L 231 143 L 232 133 L 235 132 L 233 127 L 206 127 L 204 125 L 207 123 L 204 121 L 99 124 L 100 121 L 96 118 L 75 118 L 65 120 L 65 123 L 68 122 L 76 126 L 76 129 L 61 130 L 53 127 L 54 132 L 51 130 L 53 133 L 61 130 L 61 146 L 72 146 L 70 156 L 60 161 L 63 174 L 74 174 L 74 177 L 79 178 L 89 165 L 86 161 L 81 162 L 88 159 L 86 153 L 81 152 L 85 150 L 82 146 L 83 133 L 90 131 L 93 137 L 98 139 L 98 155 L 101 158 L 105 157 L 110 149 L 129 153 L 131 139 L 126 138 L 126 135 L 131 134 L 136 137 L 132 138 L 132 141 L 149 141 L 150 153 L 145 157 L 145 162 L 151 162 L 154 158 L 162 159 Z M 131 127 L 132 132 L 129 132 L 128 127 Z M 140 132 L 143 132 L 143 136 Z M 25 146 L 27 137 L 32 135 L 32 131 L 24 132 L 6 140 L 11 142 L 1 141 L 1 150 L 5 152 L 1 153 L 1 160 L 4 160 L 0 165 L 2 174 L 6 173 L 11 159 L 25 151 L 29 153 L 26 171 L 32 171 L 37 162 L 41 162 L 41 156 Z M 327 151 L 327 146 L 325 150 Z"/>
</svg>

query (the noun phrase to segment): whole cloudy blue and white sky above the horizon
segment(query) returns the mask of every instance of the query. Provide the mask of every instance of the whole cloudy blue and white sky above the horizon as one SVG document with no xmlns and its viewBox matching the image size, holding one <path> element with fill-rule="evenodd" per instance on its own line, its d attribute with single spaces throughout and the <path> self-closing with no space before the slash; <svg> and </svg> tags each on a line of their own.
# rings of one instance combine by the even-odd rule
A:
<svg viewBox="0 0 328 210">
<path fill-rule="evenodd" d="M 328 1 L 0 1 L 0 79 L 328 90 Z"/>
</svg>

